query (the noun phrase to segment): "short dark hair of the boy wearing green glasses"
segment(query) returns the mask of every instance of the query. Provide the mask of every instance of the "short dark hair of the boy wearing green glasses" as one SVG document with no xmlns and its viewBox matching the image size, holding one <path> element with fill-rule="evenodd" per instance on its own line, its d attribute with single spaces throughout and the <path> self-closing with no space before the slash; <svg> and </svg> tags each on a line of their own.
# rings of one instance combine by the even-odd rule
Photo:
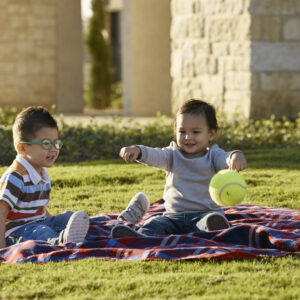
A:
<svg viewBox="0 0 300 300">
<path fill-rule="evenodd" d="M 21 141 L 30 141 L 38 130 L 44 127 L 56 128 L 57 122 L 50 112 L 42 106 L 30 106 L 21 111 L 13 125 L 13 139 L 15 148 Z"/>
</svg>

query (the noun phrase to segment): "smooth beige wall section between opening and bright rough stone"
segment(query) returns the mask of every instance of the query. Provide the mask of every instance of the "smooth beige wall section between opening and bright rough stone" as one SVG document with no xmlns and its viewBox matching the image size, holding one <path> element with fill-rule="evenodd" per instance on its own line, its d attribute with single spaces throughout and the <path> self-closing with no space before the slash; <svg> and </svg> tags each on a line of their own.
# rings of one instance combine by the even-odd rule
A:
<svg viewBox="0 0 300 300">
<path fill-rule="evenodd" d="M 122 20 L 124 114 L 169 115 L 170 0 L 126 0 Z"/>
</svg>

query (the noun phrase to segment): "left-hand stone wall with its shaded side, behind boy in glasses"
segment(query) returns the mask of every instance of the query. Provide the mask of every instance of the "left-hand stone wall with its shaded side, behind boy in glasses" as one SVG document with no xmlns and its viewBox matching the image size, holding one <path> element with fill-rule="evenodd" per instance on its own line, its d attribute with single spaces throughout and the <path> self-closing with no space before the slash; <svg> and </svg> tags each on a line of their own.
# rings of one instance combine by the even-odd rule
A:
<svg viewBox="0 0 300 300">
<path fill-rule="evenodd" d="M 69 28 L 69 34 L 63 35 L 63 28 Z M 72 36 L 70 30 L 74 28 L 79 30 L 79 38 L 70 42 L 66 36 Z M 81 111 L 79 0 L 72 0 L 72 3 L 70 0 L 0 0 L 0 45 L 1 106 L 50 107 L 54 104 L 58 112 Z M 66 59 L 62 61 L 66 57 L 72 58 L 72 64 Z M 68 107 L 62 102 L 68 102 Z M 59 109 L 61 107 L 65 109 Z"/>
</svg>

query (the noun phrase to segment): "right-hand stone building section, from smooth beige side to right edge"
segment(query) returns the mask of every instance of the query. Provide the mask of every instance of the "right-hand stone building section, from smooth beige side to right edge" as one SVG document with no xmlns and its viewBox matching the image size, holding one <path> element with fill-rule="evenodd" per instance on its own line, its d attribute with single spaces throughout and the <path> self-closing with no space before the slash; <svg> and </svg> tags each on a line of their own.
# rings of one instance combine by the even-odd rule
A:
<svg viewBox="0 0 300 300">
<path fill-rule="evenodd" d="M 228 115 L 297 116 L 299 0 L 123 2 L 127 114 L 200 98 Z"/>
</svg>

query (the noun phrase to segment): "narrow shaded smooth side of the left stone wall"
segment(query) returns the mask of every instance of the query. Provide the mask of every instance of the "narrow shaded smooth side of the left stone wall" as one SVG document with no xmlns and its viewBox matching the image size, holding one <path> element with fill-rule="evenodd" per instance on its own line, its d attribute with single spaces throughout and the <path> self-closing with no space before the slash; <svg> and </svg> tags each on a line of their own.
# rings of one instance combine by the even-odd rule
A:
<svg viewBox="0 0 300 300">
<path fill-rule="evenodd" d="M 83 39 L 80 0 L 57 0 L 56 111 L 83 109 Z"/>
</svg>

